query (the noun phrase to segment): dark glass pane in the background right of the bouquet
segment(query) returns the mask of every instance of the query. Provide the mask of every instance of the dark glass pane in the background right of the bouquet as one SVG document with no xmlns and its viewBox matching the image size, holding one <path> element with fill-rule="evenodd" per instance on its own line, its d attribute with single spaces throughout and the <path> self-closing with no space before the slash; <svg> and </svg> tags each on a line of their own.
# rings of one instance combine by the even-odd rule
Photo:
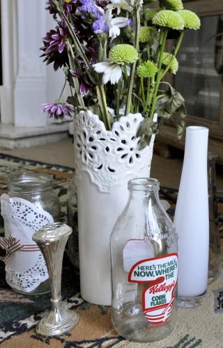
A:
<svg viewBox="0 0 223 348">
<path fill-rule="evenodd" d="M 185 98 L 188 115 L 218 121 L 223 72 L 223 16 L 201 17 L 199 31 L 185 31 L 178 61 L 175 86 Z"/>
</svg>

